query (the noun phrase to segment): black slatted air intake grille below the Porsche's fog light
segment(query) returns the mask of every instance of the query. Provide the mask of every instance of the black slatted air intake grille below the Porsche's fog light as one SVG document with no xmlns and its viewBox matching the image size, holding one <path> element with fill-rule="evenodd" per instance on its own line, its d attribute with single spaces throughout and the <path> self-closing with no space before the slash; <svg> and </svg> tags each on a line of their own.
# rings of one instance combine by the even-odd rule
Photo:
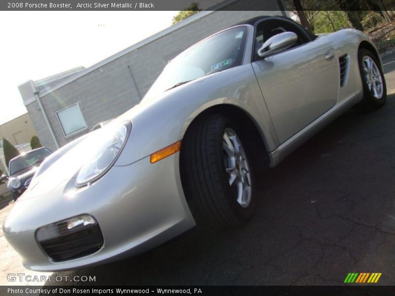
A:
<svg viewBox="0 0 395 296">
<path fill-rule="evenodd" d="M 99 225 L 94 224 L 39 243 L 50 258 L 63 261 L 97 252 L 103 246 L 104 240 Z"/>
</svg>

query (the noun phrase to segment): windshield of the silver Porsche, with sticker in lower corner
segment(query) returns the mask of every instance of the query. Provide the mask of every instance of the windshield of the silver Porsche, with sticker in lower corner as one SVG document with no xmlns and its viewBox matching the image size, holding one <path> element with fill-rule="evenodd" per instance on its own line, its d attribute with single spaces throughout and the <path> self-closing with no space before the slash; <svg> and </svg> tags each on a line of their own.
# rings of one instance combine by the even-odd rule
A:
<svg viewBox="0 0 395 296">
<path fill-rule="evenodd" d="M 177 84 L 241 65 L 247 30 L 245 26 L 226 30 L 179 54 L 164 68 L 144 100 Z"/>
</svg>

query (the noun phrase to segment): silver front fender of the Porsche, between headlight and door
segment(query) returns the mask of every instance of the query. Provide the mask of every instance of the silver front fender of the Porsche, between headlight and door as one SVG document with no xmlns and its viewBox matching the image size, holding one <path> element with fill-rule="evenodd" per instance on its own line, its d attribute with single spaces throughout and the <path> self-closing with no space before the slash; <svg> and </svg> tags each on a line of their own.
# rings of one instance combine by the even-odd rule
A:
<svg viewBox="0 0 395 296">
<path fill-rule="evenodd" d="M 211 74 L 144 101 L 120 116 L 132 121 L 129 140 L 116 165 L 128 165 L 181 140 L 202 111 L 221 104 L 237 106 L 256 122 L 268 151 L 276 133 L 251 64 Z"/>
</svg>

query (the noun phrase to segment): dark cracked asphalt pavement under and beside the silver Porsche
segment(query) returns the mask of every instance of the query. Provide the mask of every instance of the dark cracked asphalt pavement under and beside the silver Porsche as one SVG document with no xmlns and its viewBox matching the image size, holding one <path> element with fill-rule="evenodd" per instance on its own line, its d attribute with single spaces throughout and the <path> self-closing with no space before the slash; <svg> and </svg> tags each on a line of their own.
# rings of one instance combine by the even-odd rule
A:
<svg viewBox="0 0 395 296">
<path fill-rule="evenodd" d="M 384 68 L 386 106 L 348 111 L 259 175 L 248 225 L 194 228 L 140 256 L 53 276 L 95 276 L 86 283 L 95 285 L 339 285 L 349 272 L 381 272 L 378 284 L 394 285 L 395 63 Z M 12 258 L 1 278 L 20 265 Z"/>
</svg>

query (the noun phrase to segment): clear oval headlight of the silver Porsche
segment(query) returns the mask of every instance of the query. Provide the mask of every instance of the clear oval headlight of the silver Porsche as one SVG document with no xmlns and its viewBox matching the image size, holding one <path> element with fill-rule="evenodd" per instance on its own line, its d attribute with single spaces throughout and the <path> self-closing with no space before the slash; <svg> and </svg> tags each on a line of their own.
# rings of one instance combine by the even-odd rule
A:
<svg viewBox="0 0 395 296">
<path fill-rule="evenodd" d="M 103 128 L 103 138 L 100 138 L 100 144 L 96 147 L 92 147 L 92 156 L 79 170 L 76 186 L 80 187 L 87 183 L 96 181 L 107 173 L 107 171 L 117 161 L 123 146 L 125 146 L 130 130 L 130 121 L 115 129 L 105 130 L 105 128 Z"/>
</svg>

